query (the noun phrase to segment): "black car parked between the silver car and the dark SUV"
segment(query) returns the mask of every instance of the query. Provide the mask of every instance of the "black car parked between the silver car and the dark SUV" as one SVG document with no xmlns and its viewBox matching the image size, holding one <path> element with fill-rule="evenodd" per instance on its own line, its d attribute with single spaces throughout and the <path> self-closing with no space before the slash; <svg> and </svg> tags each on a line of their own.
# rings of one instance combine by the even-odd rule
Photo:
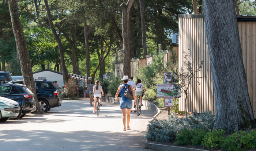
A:
<svg viewBox="0 0 256 151">
<path fill-rule="evenodd" d="M 22 118 L 27 113 L 34 112 L 37 109 L 35 95 L 25 85 L 1 83 L 0 96 L 18 102 L 21 107 L 19 115 L 11 119 Z"/>
</svg>

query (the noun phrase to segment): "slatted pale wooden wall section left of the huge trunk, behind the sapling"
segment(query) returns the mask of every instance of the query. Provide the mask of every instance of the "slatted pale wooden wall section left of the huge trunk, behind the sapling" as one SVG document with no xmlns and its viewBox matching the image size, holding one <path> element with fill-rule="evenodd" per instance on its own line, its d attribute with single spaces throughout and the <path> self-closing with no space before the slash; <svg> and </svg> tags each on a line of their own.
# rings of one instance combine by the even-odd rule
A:
<svg viewBox="0 0 256 151">
<path fill-rule="evenodd" d="M 179 18 L 179 47 L 178 47 L 179 69 L 186 67 L 183 65 L 184 53 L 191 52 L 191 62 L 193 69 L 199 67 L 201 61 L 204 66 L 197 77 L 206 75 L 207 78 L 197 79 L 200 84 L 193 79 L 190 82 L 187 99 L 187 111 L 197 112 L 213 111 L 215 113 L 215 100 L 213 93 L 210 59 L 208 54 L 207 39 L 204 26 L 204 18 Z M 182 94 L 179 109 L 185 111 L 185 94 Z"/>
</svg>

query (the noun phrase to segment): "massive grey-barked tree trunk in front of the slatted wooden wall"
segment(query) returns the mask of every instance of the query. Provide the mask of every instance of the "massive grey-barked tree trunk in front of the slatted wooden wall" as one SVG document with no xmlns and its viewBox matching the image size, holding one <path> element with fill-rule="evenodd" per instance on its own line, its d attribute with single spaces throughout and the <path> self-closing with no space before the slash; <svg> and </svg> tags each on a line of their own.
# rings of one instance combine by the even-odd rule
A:
<svg viewBox="0 0 256 151">
<path fill-rule="evenodd" d="M 216 105 L 214 128 L 226 133 L 253 128 L 234 0 L 204 0 L 203 7 Z"/>
</svg>

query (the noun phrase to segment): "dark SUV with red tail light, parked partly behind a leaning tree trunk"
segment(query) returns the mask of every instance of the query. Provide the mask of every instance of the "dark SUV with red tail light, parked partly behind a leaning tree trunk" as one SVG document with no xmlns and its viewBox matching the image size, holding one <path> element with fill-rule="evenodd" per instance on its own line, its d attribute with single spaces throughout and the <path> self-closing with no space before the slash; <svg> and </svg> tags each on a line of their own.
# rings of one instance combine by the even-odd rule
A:
<svg viewBox="0 0 256 151">
<path fill-rule="evenodd" d="M 60 97 L 60 89 L 57 88 L 52 81 L 35 79 L 35 88 L 37 90 L 37 98 L 39 105 L 44 112 L 48 112 L 50 108 L 59 107 L 62 103 Z M 14 80 L 9 83 L 23 84 L 22 80 Z"/>
</svg>

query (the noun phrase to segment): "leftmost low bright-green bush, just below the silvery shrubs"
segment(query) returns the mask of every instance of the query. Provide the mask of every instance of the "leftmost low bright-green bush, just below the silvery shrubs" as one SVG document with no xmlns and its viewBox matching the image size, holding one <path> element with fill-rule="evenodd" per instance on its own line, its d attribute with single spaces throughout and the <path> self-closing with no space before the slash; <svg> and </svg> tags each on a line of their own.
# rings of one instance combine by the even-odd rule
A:
<svg viewBox="0 0 256 151">
<path fill-rule="evenodd" d="M 182 129 L 179 134 L 176 135 L 177 145 L 190 145 L 192 139 L 192 133 L 188 129 Z"/>
</svg>

